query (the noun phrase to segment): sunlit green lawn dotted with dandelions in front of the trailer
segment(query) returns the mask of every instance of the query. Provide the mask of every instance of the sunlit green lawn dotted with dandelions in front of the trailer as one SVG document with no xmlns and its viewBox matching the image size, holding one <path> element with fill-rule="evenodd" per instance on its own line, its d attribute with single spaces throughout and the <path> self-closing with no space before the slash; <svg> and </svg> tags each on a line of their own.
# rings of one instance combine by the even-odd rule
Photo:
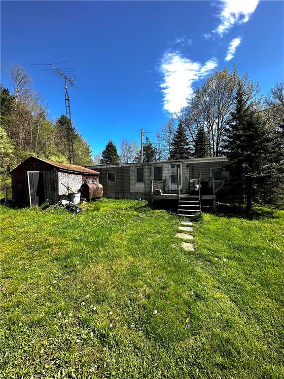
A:
<svg viewBox="0 0 284 379">
<path fill-rule="evenodd" d="M 1 378 L 284 377 L 283 211 L 83 208 L 1 207 Z"/>
</svg>

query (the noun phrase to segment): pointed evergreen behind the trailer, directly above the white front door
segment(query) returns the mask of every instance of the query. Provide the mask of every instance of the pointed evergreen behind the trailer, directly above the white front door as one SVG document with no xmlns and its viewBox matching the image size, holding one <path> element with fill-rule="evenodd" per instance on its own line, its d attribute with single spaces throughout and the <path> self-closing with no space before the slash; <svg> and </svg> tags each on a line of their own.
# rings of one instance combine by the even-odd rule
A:
<svg viewBox="0 0 284 379">
<path fill-rule="evenodd" d="M 186 135 L 185 126 L 179 122 L 178 129 L 175 131 L 170 149 L 170 159 L 190 158 L 189 141 Z"/>
</svg>

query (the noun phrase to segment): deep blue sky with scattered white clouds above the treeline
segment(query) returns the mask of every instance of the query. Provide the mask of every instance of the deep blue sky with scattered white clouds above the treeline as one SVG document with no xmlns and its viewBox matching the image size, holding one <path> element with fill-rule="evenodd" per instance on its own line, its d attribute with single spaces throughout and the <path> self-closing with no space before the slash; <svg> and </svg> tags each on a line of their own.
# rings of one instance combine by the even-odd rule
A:
<svg viewBox="0 0 284 379">
<path fill-rule="evenodd" d="M 20 64 L 59 117 L 64 83 L 31 64 L 71 61 L 72 121 L 96 153 L 159 131 L 214 70 L 235 64 L 267 93 L 284 80 L 283 20 L 283 1 L 1 1 L 1 82 Z"/>
</svg>

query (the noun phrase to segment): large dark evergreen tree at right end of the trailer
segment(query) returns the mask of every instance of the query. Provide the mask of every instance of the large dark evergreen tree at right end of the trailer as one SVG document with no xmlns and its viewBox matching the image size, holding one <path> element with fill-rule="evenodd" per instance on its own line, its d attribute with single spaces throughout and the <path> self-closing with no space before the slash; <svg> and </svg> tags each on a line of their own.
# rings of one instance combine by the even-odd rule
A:
<svg viewBox="0 0 284 379">
<path fill-rule="evenodd" d="M 244 87 L 238 85 L 233 122 L 227 131 L 227 157 L 233 163 L 230 189 L 236 199 L 245 200 L 250 211 L 253 201 L 266 202 L 267 189 L 283 179 L 283 137 L 268 128 L 261 116 L 250 111 Z"/>
</svg>

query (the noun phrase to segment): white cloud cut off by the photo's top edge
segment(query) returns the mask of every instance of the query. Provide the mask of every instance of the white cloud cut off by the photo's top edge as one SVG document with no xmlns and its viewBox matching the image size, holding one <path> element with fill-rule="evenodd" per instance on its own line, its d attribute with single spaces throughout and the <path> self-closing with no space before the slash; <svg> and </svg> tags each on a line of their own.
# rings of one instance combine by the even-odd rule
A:
<svg viewBox="0 0 284 379">
<path fill-rule="evenodd" d="M 243 24 L 249 21 L 250 15 L 255 11 L 259 0 L 222 0 L 221 11 L 218 17 L 221 23 L 214 30 L 221 37 L 227 33 L 235 24 Z"/>
</svg>

